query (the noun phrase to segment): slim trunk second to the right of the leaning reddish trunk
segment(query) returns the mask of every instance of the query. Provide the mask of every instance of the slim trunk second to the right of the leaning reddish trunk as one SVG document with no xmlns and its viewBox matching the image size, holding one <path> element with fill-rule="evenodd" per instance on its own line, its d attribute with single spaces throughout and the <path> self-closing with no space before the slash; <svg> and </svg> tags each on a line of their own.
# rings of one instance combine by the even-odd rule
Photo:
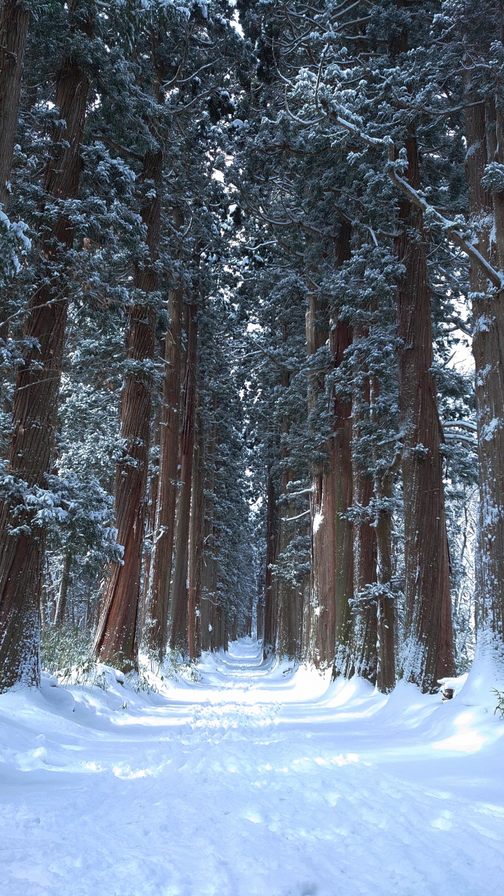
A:
<svg viewBox="0 0 504 896">
<path fill-rule="evenodd" d="M 177 536 L 175 540 L 175 565 L 173 570 L 169 633 L 170 648 L 179 650 L 184 656 L 187 654 L 187 560 L 193 452 L 195 447 L 196 350 L 197 306 L 196 301 L 193 300 L 189 306 L 187 322 L 184 416 L 180 435 L 180 494 L 178 496 Z"/>
</svg>

